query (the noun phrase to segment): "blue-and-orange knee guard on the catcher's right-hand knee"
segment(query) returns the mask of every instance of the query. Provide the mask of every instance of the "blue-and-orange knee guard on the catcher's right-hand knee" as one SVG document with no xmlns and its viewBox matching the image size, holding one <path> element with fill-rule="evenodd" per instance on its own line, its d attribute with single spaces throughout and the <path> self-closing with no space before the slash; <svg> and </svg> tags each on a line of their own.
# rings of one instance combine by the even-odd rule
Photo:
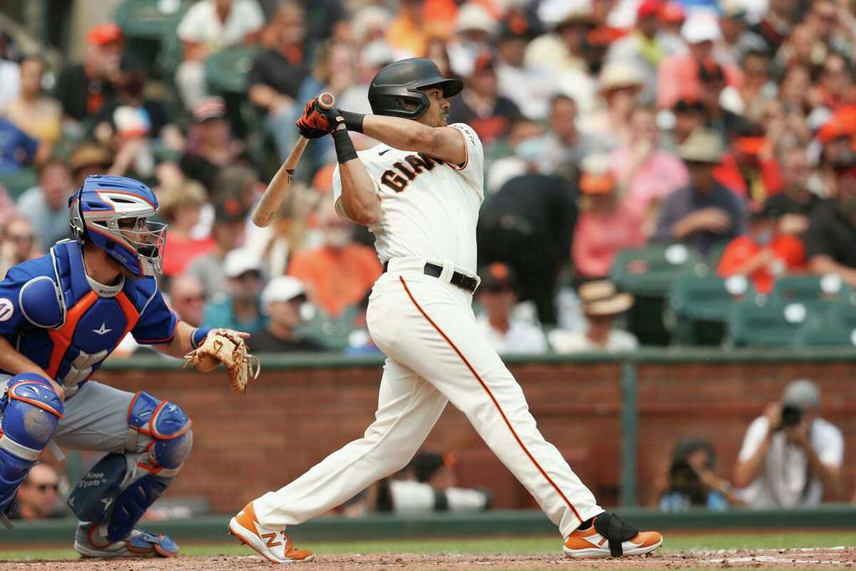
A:
<svg viewBox="0 0 856 571">
<path fill-rule="evenodd" d="M 128 408 L 128 426 L 154 439 L 151 451 L 152 469 L 181 467 L 193 445 L 191 420 L 180 407 L 169 401 L 158 401 L 145 391 L 134 395 Z"/>
</svg>

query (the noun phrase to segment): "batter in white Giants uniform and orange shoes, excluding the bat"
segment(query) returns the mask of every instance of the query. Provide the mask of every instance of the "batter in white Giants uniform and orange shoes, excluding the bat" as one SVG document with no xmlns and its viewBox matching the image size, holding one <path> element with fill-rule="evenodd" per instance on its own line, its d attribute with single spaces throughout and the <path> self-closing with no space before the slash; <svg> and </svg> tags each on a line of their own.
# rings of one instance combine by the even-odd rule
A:
<svg viewBox="0 0 856 571">
<path fill-rule="evenodd" d="M 372 339 L 387 355 L 375 421 L 279 491 L 248 503 L 229 523 L 272 562 L 309 561 L 285 533 L 395 473 L 416 453 L 447 402 L 467 415 L 490 449 L 559 527 L 568 556 L 639 555 L 663 542 L 604 513 L 591 491 L 538 431 L 520 385 L 479 333 L 476 222 L 484 152 L 465 124 L 446 125 L 461 81 L 428 59 L 389 64 L 369 89 L 374 115 L 324 110 L 313 99 L 300 134 L 332 134 L 336 210 L 376 236 L 384 273 L 369 298 Z M 360 153 L 348 131 L 382 144 Z"/>
</svg>

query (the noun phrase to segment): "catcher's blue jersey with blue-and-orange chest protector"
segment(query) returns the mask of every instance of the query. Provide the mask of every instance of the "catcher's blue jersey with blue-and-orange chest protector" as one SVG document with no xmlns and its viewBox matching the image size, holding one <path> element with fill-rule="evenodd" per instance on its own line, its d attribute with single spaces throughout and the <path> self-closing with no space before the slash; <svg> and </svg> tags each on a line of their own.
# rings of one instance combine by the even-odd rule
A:
<svg viewBox="0 0 856 571">
<path fill-rule="evenodd" d="M 128 332 L 169 342 L 178 320 L 154 277 L 113 288 L 86 277 L 76 241 L 9 269 L 0 282 L 0 335 L 68 389 L 85 383 Z"/>
</svg>

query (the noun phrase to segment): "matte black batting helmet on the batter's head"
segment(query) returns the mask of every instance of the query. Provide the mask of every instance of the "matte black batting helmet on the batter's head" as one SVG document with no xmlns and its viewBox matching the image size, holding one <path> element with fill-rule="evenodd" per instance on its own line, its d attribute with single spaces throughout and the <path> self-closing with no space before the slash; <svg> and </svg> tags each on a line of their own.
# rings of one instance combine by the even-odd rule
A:
<svg viewBox="0 0 856 571">
<path fill-rule="evenodd" d="M 369 103 L 372 113 L 415 119 L 431 106 L 420 89 L 437 86 L 443 97 L 461 92 L 461 80 L 449 79 L 440 74 L 437 65 L 427 57 L 411 57 L 392 62 L 377 72 L 369 85 Z"/>
</svg>

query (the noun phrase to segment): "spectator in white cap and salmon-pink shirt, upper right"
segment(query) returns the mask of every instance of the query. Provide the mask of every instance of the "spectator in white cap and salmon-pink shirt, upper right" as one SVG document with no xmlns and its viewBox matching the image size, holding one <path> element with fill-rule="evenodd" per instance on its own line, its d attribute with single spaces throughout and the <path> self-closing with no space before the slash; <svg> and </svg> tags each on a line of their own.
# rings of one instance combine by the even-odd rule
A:
<svg viewBox="0 0 856 571">
<path fill-rule="evenodd" d="M 722 33 L 716 16 L 707 12 L 693 13 L 683 23 L 681 37 L 687 42 L 689 51 L 667 58 L 658 70 L 657 107 L 661 109 L 669 109 L 680 98 L 703 98 L 701 67 L 719 57 L 715 47 L 721 42 Z M 707 66 L 710 68 L 711 64 Z M 739 85 L 740 69 L 725 65 L 722 73 L 728 85 Z"/>
</svg>

